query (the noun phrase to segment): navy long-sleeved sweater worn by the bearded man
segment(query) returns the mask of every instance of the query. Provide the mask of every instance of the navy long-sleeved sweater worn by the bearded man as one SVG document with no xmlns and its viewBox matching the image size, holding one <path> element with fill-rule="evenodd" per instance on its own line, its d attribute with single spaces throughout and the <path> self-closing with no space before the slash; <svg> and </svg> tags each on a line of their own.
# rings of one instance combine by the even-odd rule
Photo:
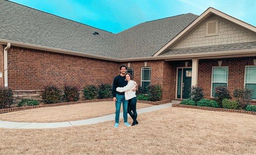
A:
<svg viewBox="0 0 256 155">
<path fill-rule="evenodd" d="M 128 81 L 125 80 L 125 76 L 118 75 L 113 80 L 113 86 L 112 86 L 112 96 L 116 97 L 116 94 L 119 95 L 125 95 L 125 92 L 118 92 L 116 91 L 117 87 L 125 87 L 128 84 Z"/>
</svg>

